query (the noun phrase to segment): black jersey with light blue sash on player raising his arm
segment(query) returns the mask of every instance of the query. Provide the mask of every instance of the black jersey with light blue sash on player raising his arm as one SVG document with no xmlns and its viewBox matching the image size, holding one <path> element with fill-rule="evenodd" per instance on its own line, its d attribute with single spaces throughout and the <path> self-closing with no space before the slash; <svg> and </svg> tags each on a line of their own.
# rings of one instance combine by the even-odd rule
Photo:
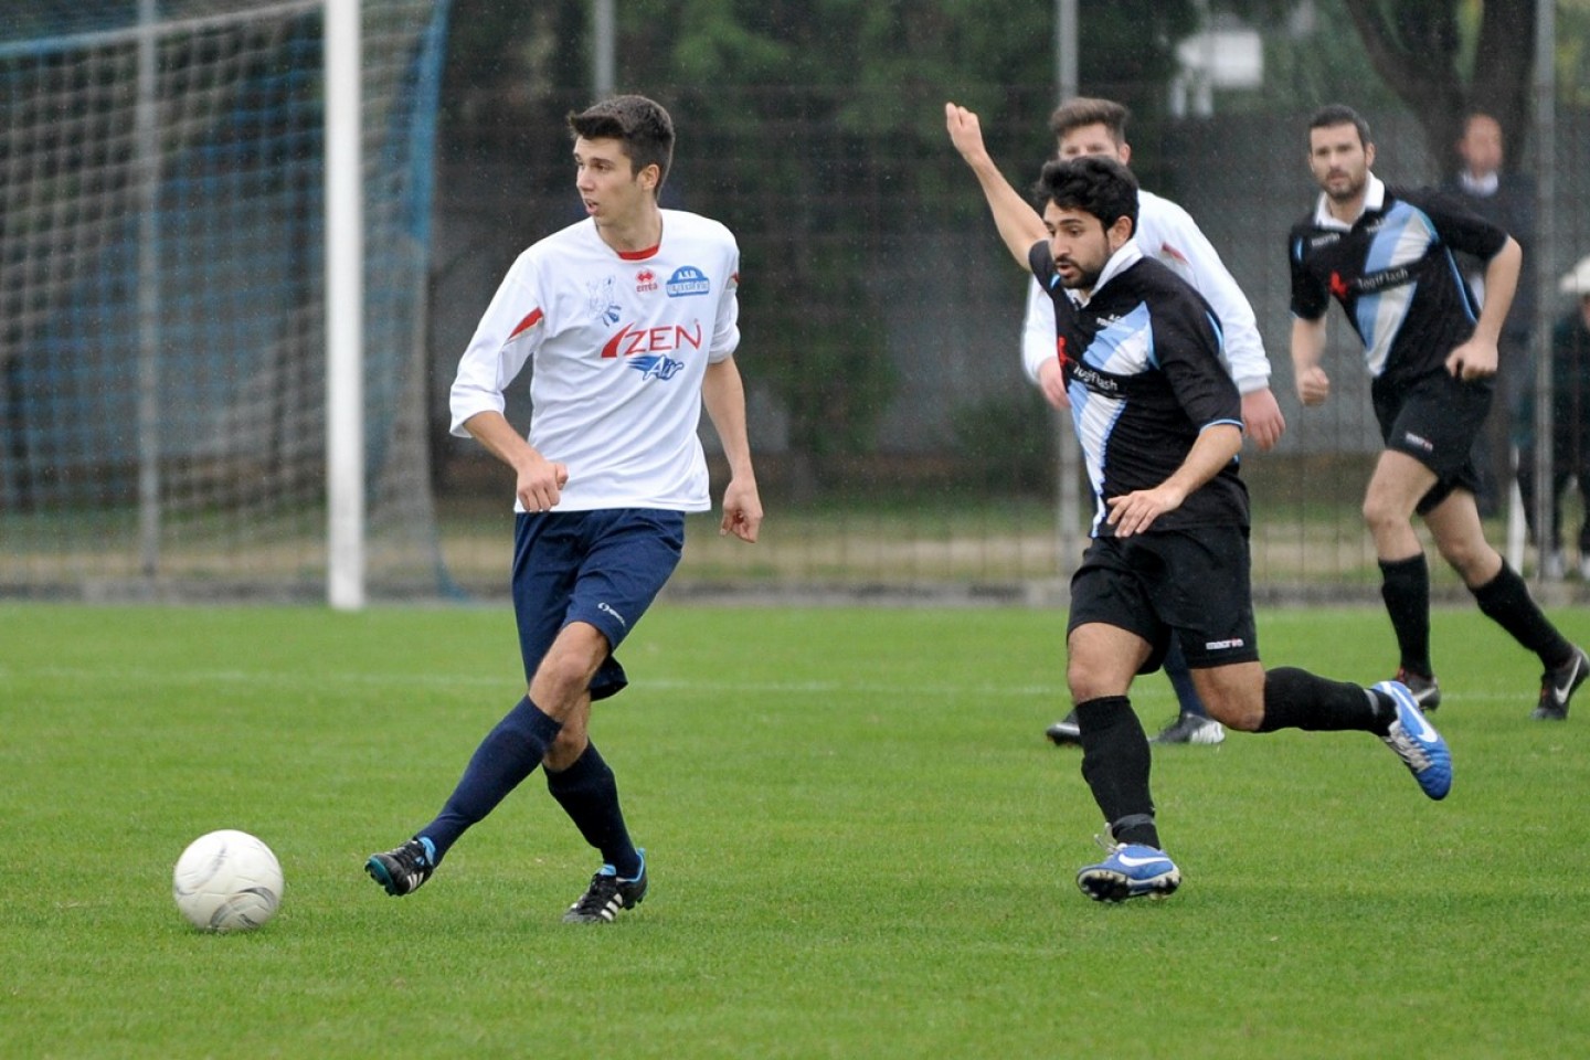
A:
<svg viewBox="0 0 1590 1060">
<path fill-rule="evenodd" d="M 1124 267 L 1108 269 L 1084 305 L 1061 284 L 1048 242 L 1027 257 L 1054 302 L 1056 354 L 1094 489 L 1096 537 L 1115 534 L 1105 523 L 1110 497 L 1161 485 L 1205 427 L 1242 426 L 1208 302 L 1135 245 L 1118 257 L 1111 264 Z M 1247 524 L 1248 489 L 1231 461 L 1153 529 Z"/>
</svg>

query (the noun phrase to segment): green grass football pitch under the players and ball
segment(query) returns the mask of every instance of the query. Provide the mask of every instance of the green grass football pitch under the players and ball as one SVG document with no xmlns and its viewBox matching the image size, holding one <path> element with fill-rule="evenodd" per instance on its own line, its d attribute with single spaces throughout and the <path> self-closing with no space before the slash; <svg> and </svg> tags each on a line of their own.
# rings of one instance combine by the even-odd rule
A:
<svg viewBox="0 0 1590 1060">
<path fill-rule="evenodd" d="M 1590 613 L 1558 612 L 1590 642 Z M 3 1057 L 1582 1057 L 1590 699 L 1436 615 L 1445 803 L 1361 734 L 1156 753 L 1164 903 L 1097 906 L 1064 615 L 661 605 L 598 707 L 652 890 L 560 923 L 596 858 L 539 776 L 420 893 L 429 820 L 520 694 L 501 609 L 0 605 Z M 1270 664 L 1375 680 L 1377 610 L 1261 615 Z M 1172 712 L 1140 682 L 1150 728 Z M 242 828 L 251 934 L 170 871 Z"/>
</svg>

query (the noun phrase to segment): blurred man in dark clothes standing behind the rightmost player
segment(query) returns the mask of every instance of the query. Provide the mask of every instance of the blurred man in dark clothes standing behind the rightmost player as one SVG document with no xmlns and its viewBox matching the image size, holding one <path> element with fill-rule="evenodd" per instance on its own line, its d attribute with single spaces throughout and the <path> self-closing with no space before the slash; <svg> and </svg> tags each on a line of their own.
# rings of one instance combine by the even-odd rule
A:
<svg viewBox="0 0 1590 1060">
<path fill-rule="evenodd" d="M 1510 418 L 1518 415 L 1530 377 L 1530 326 L 1534 321 L 1534 181 L 1504 168 L 1506 149 L 1501 122 L 1483 111 L 1471 113 L 1458 138 L 1458 172 L 1445 189 L 1464 207 L 1512 235 L 1523 250 L 1523 270 L 1514 292 L 1512 310 L 1496 342 L 1496 397 L 1485 429 L 1474 442 L 1474 462 L 1480 482 L 1474 493 L 1480 515 L 1495 515 L 1506 505 L 1512 480 Z M 1485 262 L 1463 254 L 1463 272 L 1479 302 L 1485 302 Z"/>
</svg>

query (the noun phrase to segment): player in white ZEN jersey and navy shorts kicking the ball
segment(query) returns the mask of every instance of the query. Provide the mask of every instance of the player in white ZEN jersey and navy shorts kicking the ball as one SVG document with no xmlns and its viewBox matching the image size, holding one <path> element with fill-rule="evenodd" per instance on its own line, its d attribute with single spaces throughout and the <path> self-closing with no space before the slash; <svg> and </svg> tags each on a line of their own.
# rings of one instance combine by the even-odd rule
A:
<svg viewBox="0 0 1590 1060">
<path fill-rule="evenodd" d="M 601 852 L 563 915 L 607 923 L 646 896 L 612 769 L 590 742 L 591 701 L 628 682 L 614 656 L 673 574 L 685 512 L 711 509 L 696 435 L 701 407 L 730 482 L 722 534 L 762 524 L 746 434 L 739 250 L 722 224 L 658 207 L 673 159 L 668 111 L 619 95 L 569 114 L 587 219 L 509 269 L 452 389 L 453 434 L 479 440 L 515 475 L 514 612 L 528 694 L 487 734 L 442 810 L 366 871 L 388 895 L 425 884 L 463 833 L 536 766 Z M 528 437 L 504 418 L 526 364 Z"/>
</svg>

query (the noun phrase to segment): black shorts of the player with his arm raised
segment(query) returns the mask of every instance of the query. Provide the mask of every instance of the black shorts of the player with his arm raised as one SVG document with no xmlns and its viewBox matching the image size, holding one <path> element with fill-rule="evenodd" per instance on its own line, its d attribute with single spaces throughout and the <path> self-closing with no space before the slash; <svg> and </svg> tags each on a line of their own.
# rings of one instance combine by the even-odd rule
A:
<svg viewBox="0 0 1590 1060">
<path fill-rule="evenodd" d="M 1188 667 L 1253 663 L 1253 625 L 1245 526 L 1150 531 L 1096 537 L 1072 575 L 1067 634 L 1099 621 L 1150 644 L 1140 674 L 1159 669 L 1175 636 Z"/>
</svg>

